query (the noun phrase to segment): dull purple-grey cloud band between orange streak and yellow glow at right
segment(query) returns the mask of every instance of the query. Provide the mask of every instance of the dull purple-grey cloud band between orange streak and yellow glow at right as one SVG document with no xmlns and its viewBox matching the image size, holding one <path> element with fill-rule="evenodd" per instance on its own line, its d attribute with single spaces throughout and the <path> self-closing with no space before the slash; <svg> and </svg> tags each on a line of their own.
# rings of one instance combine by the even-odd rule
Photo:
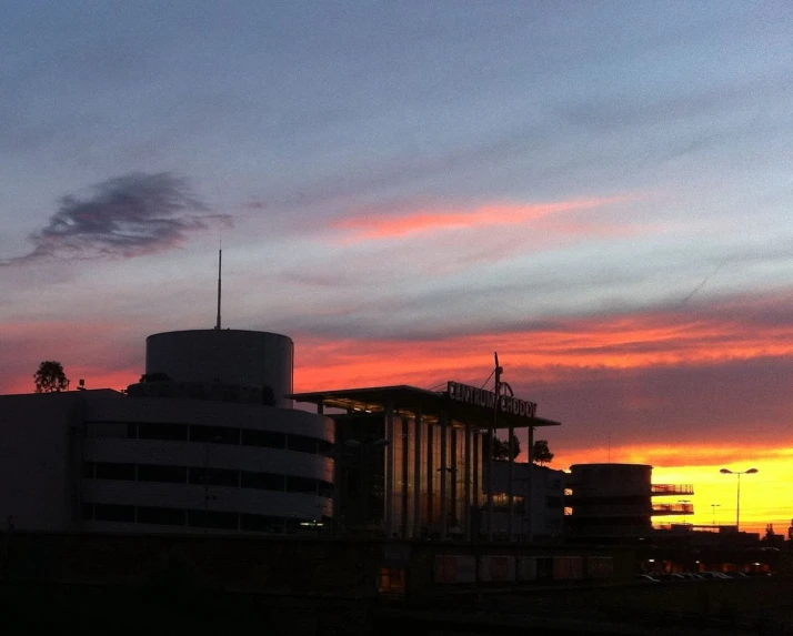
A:
<svg viewBox="0 0 793 636">
<path fill-rule="evenodd" d="M 757 357 L 643 369 L 558 370 L 512 381 L 539 413 L 562 422 L 551 438 L 568 451 L 666 444 L 790 446 L 790 359 Z M 561 456 L 560 456 L 561 458 Z M 560 467 L 563 464 L 560 464 Z"/>
</svg>

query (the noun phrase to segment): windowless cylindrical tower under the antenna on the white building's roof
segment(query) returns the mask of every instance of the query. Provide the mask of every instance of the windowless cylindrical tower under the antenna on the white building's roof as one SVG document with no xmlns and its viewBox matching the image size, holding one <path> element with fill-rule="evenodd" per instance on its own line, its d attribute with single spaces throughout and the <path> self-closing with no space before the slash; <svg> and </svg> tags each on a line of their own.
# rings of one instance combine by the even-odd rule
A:
<svg viewBox="0 0 793 636">
<path fill-rule="evenodd" d="M 293 390 L 294 343 L 277 333 L 194 330 L 145 339 L 145 373 L 178 382 L 272 387 L 279 406 Z"/>
</svg>

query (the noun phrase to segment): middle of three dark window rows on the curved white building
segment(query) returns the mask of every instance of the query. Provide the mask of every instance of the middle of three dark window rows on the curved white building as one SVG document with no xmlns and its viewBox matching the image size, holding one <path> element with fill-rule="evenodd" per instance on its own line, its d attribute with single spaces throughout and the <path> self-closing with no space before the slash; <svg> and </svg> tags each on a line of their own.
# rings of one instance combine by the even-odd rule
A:
<svg viewBox="0 0 793 636">
<path fill-rule="evenodd" d="M 193 484 L 200 486 L 277 491 L 279 493 L 302 493 L 319 495 L 321 497 L 333 496 L 333 484 L 323 479 L 279 475 L 275 473 L 230 471 L 227 468 L 84 462 L 82 465 L 82 476 L 87 479 Z"/>
</svg>

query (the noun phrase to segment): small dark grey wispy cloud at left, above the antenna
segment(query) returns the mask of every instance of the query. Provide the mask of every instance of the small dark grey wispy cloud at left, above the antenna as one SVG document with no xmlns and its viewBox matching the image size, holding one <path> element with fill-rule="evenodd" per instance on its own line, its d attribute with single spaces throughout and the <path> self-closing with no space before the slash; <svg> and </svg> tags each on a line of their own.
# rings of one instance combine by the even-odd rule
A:
<svg viewBox="0 0 793 636">
<path fill-rule="evenodd" d="M 179 245 L 188 234 L 228 214 L 212 214 L 197 199 L 185 179 L 170 172 L 133 172 L 93 185 L 92 195 L 63 196 L 58 212 L 30 235 L 33 249 L 3 265 L 66 259 L 129 259 Z"/>
</svg>

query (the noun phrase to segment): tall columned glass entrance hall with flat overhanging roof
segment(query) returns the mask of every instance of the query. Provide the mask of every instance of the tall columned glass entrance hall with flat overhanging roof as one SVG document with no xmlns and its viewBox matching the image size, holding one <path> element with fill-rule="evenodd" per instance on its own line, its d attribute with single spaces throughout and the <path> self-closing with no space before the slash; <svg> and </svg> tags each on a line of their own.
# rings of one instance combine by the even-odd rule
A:
<svg viewBox="0 0 793 636">
<path fill-rule="evenodd" d="M 495 499 L 485 482 L 495 428 L 511 436 L 558 422 L 536 405 L 449 382 L 445 391 L 381 386 L 301 393 L 297 402 L 333 410 L 337 423 L 335 506 L 351 532 L 387 537 L 494 539 Z M 330 411 L 329 411 L 330 413 Z M 508 471 L 514 462 L 505 462 Z M 515 481 L 506 496 L 514 497 Z M 514 519 L 511 533 L 514 537 Z"/>
</svg>

